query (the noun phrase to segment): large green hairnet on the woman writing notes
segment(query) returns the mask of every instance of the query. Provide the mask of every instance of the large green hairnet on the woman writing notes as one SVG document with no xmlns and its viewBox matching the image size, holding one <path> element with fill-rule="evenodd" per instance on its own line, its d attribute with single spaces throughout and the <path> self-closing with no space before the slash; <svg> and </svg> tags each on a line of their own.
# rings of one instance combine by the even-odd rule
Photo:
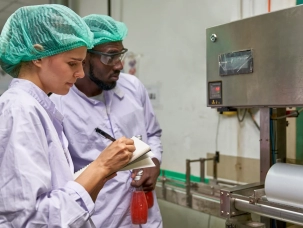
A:
<svg viewBox="0 0 303 228">
<path fill-rule="evenodd" d="M 93 34 L 74 11 L 56 4 L 25 6 L 13 13 L 2 29 L 0 65 L 17 77 L 21 62 L 81 46 L 91 49 Z"/>
</svg>

